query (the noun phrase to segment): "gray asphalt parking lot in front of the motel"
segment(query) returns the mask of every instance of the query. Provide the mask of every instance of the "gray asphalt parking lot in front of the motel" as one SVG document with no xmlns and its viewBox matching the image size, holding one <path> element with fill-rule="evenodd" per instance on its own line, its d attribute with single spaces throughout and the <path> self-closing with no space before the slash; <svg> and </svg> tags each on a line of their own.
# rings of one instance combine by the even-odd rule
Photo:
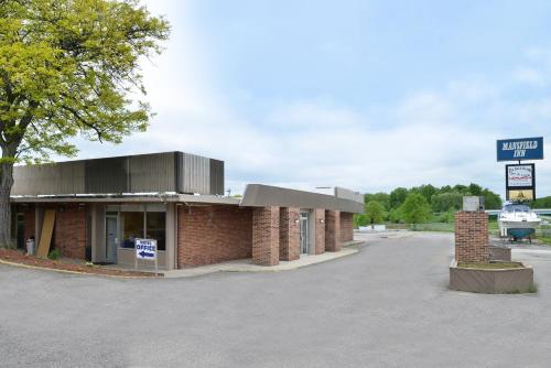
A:
<svg viewBox="0 0 551 368">
<path fill-rule="evenodd" d="M 0 264 L 0 366 L 549 367 L 551 253 L 518 255 L 537 294 L 482 295 L 446 289 L 453 235 L 361 236 L 355 256 L 276 273 Z"/>
</svg>

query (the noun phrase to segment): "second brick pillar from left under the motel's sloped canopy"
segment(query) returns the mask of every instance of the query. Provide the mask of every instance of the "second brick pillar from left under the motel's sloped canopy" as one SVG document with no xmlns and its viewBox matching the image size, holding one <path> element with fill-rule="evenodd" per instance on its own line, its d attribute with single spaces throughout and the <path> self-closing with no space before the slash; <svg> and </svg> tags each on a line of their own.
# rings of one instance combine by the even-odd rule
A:
<svg viewBox="0 0 551 368">
<path fill-rule="evenodd" d="M 294 261 L 301 256 L 300 209 L 281 207 L 279 216 L 279 260 Z"/>
</svg>

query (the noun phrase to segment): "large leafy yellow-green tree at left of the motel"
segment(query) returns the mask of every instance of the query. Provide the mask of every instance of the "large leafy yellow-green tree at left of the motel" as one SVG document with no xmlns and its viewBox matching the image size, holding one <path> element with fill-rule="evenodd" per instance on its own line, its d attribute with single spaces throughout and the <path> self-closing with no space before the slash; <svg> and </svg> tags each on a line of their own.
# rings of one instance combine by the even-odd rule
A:
<svg viewBox="0 0 551 368">
<path fill-rule="evenodd" d="M 169 24 L 134 0 L 0 0 L 0 246 L 13 164 L 74 155 L 74 137 L 120 142 L 150 117 L 139 64 Z"/>
</svg>

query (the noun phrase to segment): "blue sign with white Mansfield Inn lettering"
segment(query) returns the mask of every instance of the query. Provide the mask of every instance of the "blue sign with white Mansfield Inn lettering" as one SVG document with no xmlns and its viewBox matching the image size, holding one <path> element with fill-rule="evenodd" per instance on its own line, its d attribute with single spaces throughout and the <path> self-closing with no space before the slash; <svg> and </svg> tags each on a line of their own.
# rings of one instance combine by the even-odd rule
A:
<svg viewBox="0 0 551 368">
<path fill-rule="evenodd" d="M 497 161 L 543 160 L 543 137 L 497 141 Z"/>
</svg>

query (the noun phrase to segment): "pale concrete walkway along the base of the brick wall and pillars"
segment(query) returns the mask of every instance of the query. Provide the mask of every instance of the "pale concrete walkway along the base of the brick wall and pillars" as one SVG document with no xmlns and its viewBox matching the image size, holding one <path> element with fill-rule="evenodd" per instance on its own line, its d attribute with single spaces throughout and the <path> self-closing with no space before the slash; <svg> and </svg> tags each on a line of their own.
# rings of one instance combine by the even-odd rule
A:
<svg viewBox="0 0 551 368">
<path fill-rule="evenodd" d="M 239 259 L 235 261 L 194 267 L 190 269 L 162 271 L 162 273 L 165 278 L 193 278 L 215 272 L 279 272 L 295 270 L 302 267 L 321 262 L 327 262 L 357 252 L 358 250 L 356 248 L 346 247 L 336 252 L 324 252 L 317 256 L 302 255 L 301 258 L 295 261 L 280 261 L 278 266 L 257 266 L 252 264 L 250 259 Z"/>
</svg>

